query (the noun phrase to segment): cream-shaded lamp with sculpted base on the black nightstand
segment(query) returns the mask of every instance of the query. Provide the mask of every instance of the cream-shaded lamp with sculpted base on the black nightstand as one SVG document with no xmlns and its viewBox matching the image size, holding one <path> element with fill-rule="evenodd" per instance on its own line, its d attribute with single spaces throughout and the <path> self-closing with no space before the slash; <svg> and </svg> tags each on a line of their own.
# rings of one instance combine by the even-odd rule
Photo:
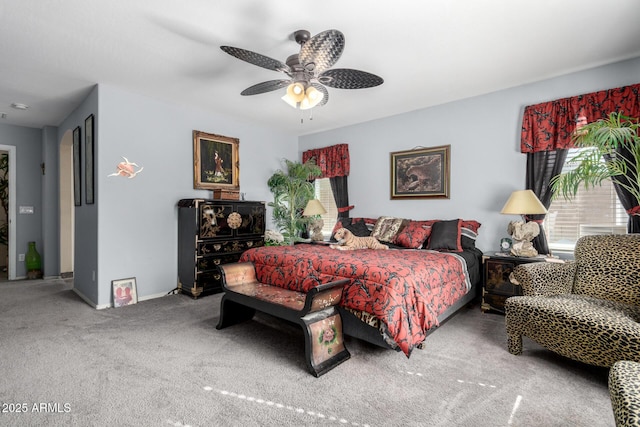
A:
<svg viewBox="0 0 640 427">
<path fill-rule="evenodd" d="M 526 215 L 546 214 L 547 208 L 535 193 L 531 190 L 514 191 L 500 213 L 522 216 L 522 221 L 511 221 L 507 227 L 507 232 L 513 239 L 511 254 L 525 257 L 538 255 L 538 251 L 533 247 L 531 241 L 540 234 L 540 226 L 537 222 L 527 222 Z"/>
</svg>

